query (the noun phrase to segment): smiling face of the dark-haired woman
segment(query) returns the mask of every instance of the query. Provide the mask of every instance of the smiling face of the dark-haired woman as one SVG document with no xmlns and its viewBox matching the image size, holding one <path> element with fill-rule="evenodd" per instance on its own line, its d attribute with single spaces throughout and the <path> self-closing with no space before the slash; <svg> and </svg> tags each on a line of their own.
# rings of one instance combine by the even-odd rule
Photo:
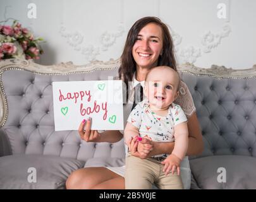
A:
<svg viewBox="0 0 256 202">
<path fill-rule="evenodd" d="M 138 33 L 132 50 L 137 67 L 150 69 L 157 66 L 162 45 L 162 28 L 159 25 L 149 23 L 143 27 Z"/>
</svg>

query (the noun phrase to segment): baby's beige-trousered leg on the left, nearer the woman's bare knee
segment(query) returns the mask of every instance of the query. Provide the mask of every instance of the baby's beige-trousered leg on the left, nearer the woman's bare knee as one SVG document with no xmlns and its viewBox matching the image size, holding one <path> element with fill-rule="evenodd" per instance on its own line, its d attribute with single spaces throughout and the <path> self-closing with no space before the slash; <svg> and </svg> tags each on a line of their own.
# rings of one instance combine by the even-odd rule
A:
<svg viewBox="0 0 256 202">
<path fill-rule="evenodd" d="M 128 156 L 125 160 L 125 189 L 152 189 L 155 166 L 147 159 Z"/>
</svg>

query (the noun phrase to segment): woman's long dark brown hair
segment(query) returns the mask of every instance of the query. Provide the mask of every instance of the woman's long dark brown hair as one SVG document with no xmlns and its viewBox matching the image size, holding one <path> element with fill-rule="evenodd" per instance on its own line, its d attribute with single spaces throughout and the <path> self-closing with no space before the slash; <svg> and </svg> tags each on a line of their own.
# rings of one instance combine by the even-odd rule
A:
<svg viewBox="0 0 256 202">
<path fill-rule="evenodd" d="M 136 71 L 136 62 L 132 55 L 133 45 L 136 42 L 140 30 L 142 30 L 142 28 L 149 23 L 155 23 L 162 28 L 162 55 L 159 56 L 157 66 L 169 66 L 175 71 L 177 70 L 177 63 L 174 56 L 173 39 L 171 38 L 171 34 L 166 24 L 164 24 L 159 18 L 151 16 L 137 20 L 128 32 L 125 47 L 121 55 L 121 66 L 118 69 L 119 79 L 123 79 L 126 84 L 126 100 L 128 100 L 128 82 L 132 81 L 133 74 Z"/>
</svg>

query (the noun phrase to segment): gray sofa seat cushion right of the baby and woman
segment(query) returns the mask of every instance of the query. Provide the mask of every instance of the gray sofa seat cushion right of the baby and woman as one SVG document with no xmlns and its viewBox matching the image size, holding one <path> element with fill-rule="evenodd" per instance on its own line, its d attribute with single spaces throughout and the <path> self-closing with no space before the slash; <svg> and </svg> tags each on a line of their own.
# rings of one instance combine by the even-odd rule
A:
<svg viewBox="0 0 256 202">
<path fill-rule="evenodd" d="M 190 160 L 190 167 L 193 174 L 192 188 L 256 189 L 255 157 L 217 155 L 196 158 Z M 226 182 L 223 182 L 225 170 Z"/>
</svg>

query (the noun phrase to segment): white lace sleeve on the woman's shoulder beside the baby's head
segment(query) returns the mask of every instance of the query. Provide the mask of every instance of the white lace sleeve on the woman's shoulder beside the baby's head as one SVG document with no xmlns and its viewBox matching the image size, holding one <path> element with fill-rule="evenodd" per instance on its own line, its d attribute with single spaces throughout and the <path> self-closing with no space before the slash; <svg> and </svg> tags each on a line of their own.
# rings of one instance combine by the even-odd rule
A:
<svg viewBox="0 0 256 202">
<path fill-rule="evenodd" d="M 183 81 L 181 81 L 179 96 L 174 102 L 175 104 L 181 106 L 186 114 L 186 117 L 192 116 L 193 112 L 195 112 L 195 105 L 192 95 L 190 93 L 190 90 L 188 90 L 188 86 L 186 86 L 186 83 L 184 83 Z"/>
</svg>

